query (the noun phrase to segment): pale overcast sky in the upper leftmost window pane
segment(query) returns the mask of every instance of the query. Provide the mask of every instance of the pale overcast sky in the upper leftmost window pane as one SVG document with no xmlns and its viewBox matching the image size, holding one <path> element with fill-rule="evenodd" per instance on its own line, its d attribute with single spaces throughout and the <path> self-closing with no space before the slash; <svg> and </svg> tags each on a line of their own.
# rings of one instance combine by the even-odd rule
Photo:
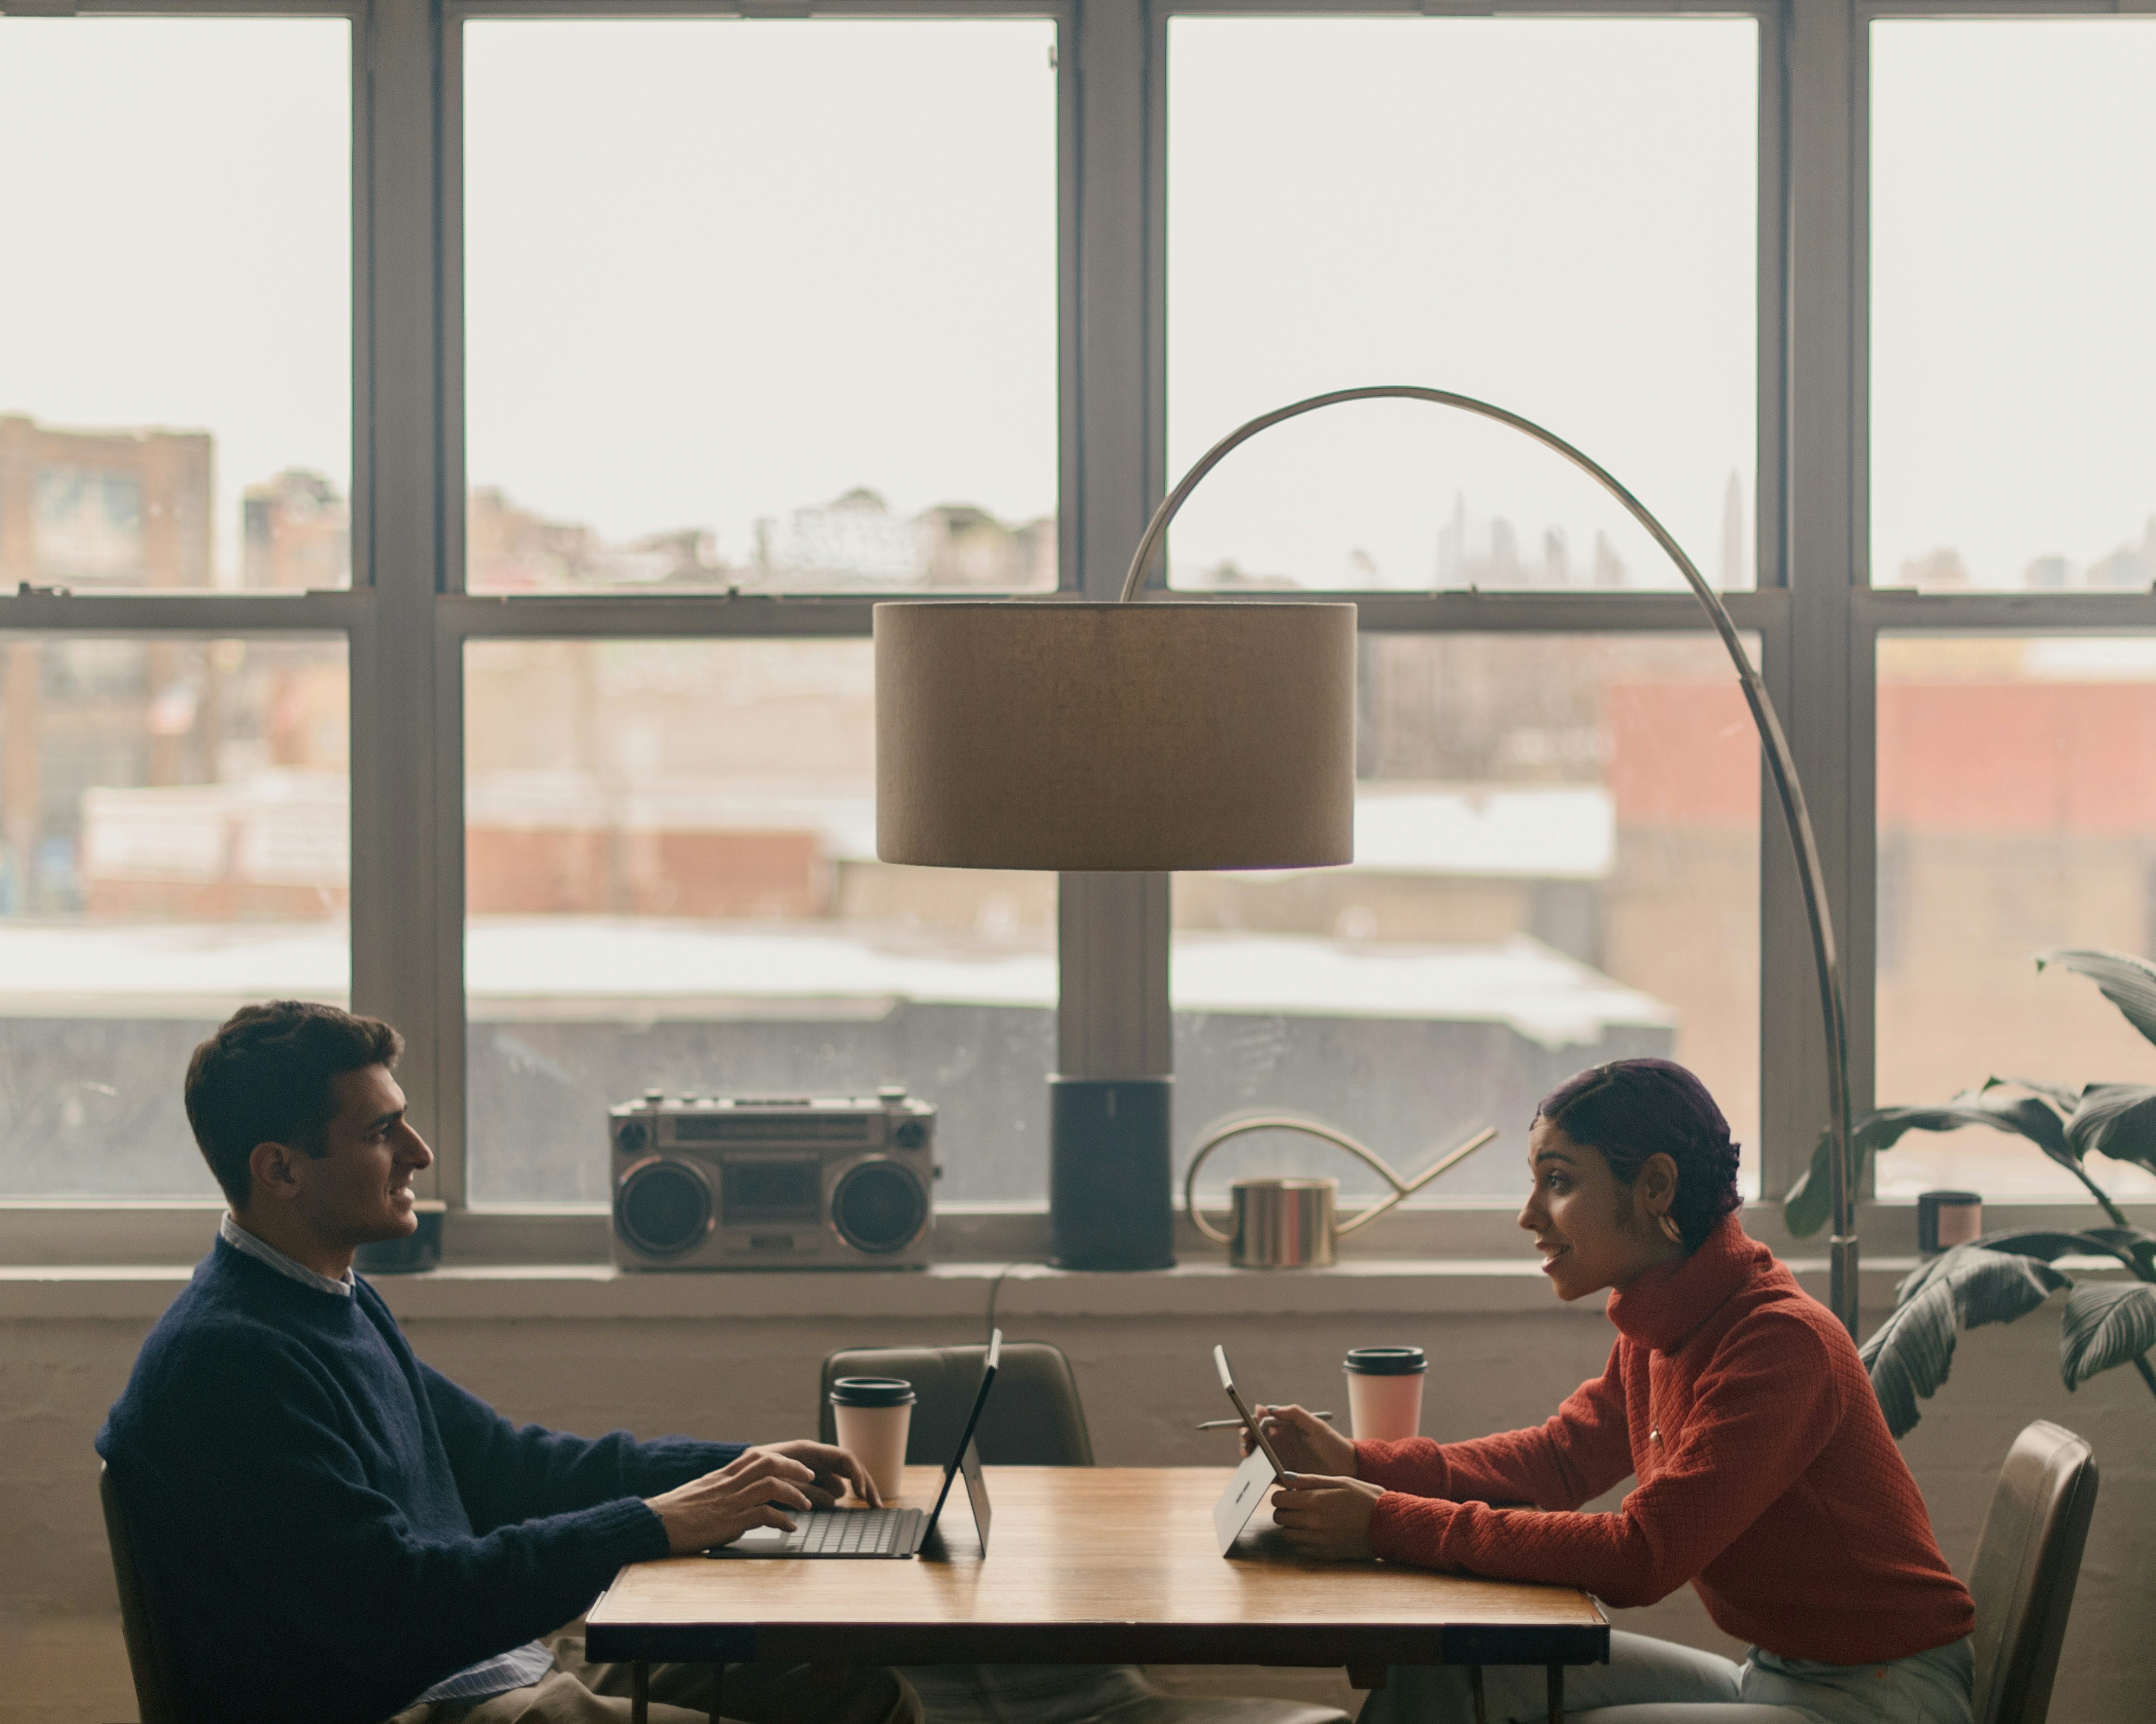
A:
<svg viewBox="0 0 2156 1724">
<path fill-rule="evenodd" d="M 351 26 L 0 17 L 0 414 L 351 474 Z"/>
</svg>

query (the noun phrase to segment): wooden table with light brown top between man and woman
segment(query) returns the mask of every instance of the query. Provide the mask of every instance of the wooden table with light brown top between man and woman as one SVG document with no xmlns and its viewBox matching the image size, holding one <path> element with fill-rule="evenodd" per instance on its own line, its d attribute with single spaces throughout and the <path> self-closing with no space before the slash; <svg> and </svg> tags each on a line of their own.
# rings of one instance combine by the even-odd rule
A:
<svg viewBox="0 0 2156 1724">
<path fill-rule="evenodd" d="M 1214 1541 L 1227 1468 L 990 1468 L 990 1554 L 953 1491 L 938 1560 L 677 1556 L 623 1569 L 586 1616 L 606 1662 L 1304 1664 L 1382 1681 L 1388 1664 L 1608 1659 L 1608 1621 L 1570 1586 L 1309 1562 L 1259 1508 L 1233 1558 Z M 942 1474 L 908 1468 L 906 1502 Z M 642 1687 L 638 1683 L 638 1687 Z M 638 1709 L 638 1715 L 642 1709 Z"/>
</svg>

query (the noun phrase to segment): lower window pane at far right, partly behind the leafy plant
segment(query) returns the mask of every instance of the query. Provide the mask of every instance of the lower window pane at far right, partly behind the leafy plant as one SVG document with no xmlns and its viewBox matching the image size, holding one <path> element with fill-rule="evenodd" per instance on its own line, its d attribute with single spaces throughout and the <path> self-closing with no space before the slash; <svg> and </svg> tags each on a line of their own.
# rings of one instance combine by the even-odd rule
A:
<svg viewBox="0 0 2156 1724">
<path fill-rule="evenodd" d="M 1986 1078 L 2156 1084 L 2156 1047 L 2093 983 L 2035 968 L 2059 946 L 2156 953 L 2156 642 L 1884 638 L 1878 677 L 1880 1103 Z M 2102 1155 L 2089 1172 L 2156 1194 Z M 1878 1159 L 1882 1194 L 1955 1185 L 2085 1196 L 1994 1131 Z"/>
</svg>

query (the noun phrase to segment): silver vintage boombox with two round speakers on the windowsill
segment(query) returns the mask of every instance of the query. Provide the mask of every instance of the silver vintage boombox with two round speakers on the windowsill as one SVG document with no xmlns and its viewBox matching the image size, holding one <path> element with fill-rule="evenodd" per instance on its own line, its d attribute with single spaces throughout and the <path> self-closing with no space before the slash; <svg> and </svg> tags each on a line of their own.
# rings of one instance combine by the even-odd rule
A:
<svg viewBox="0 0 2156 1724">
<path fill-rule="evenodd" d="M 936 1110 L 873 1097 L 666 1097 L 608 1108 L 623 1269 L 914 1269 Z"/>
</svg>

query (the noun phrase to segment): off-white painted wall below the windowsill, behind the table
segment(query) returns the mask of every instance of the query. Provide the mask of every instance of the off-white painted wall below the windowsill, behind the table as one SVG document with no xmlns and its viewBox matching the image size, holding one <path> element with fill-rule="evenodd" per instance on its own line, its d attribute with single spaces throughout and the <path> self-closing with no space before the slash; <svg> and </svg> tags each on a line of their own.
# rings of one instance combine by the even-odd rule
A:
<svg viewBox="0 0 2156 1724">
<path fill-rule="evenodd" d="M 865 1289 L 867 1291 L 867 1289 Z M 1466 1437 L 1526 1424 L 1595 1373 L 1611 1330 L 1595 1312 L 1328 1317 L 1044 1317 L 1005 1289 L 1011 1338 L 1074 1360 L 1104 1465 L 1210 1463 L 1225 1437 L 1190 1431 L 1218 1414 L 1205 1349 L 1225 1340 L 1261 1394 L 1339 1405 L 1337 1362 L 1358 1343 L 1416 1340 L 1436 1366 L 1423 1429 Z M 1404 1306 L 1408 1302 L 1401 1302 Z M 2057 1302 L 2055 1302 L 2057 1304 Z M 1013 1308 L 1015 1306 L 1015 1308 Z M 22 1724 L 132 1720 L 112 1577 L 97 1517 L 91 1435 L 147 1330 L 140 1317 L 0 1321 L 0 1718 Z M 977 1340 L 972 1319 L 446 1321 L 412 1319 L 414 1347 L 520 1420 L 642 1435 L 776 1437 L 813 1431 L 817 1364 L 841 1345 Z M 2076 1396 L 2059 1388 L 2057 1315 L 1962 1340 L 1953 1381 L 1906 1452 L 1955 1569 L 1966 1569 L 1999 1459 L 2031 1418 L 2096 1444 L 2096 1530 L 2065 1642 L 2053 1718 L 2128 1724 L 2150 1715 L 2156 1674 L 2156 1399 L 2130 1371 Z M 1692 1595 L 1619 1627 L 1731 1651 Z"/>
</svg>

